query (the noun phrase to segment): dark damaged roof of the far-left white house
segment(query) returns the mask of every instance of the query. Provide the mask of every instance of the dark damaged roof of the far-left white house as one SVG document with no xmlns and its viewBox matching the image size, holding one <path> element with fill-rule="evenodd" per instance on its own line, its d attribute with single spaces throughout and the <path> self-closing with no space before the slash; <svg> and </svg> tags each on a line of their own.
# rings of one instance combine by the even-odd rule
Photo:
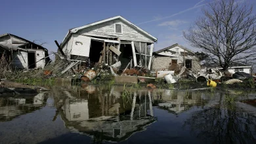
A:
<svg viewBox="0 0 256 144">
<path fill-rule="evenodd" d="M 33 43 L 32 41 L 28 41 L 27 39 L 24 39 L 24 38 L 22 38 L 22 37 L 18 37 L 17 35 L 13 35 L 13 34 L 11 34 L 11 33 L 5 33 L 5 34 L 3 34 L 3 35 L 0 35 L 0 38 L 1 38 L 1 37 L 5 37 L 5 36 L 9 36 L 9 37 L 12 36 L 12 37 L 16 37 L 16 38 L 18 38 L 18 39 L 22 39 L 23 41 L 26 41 L 26 43 L 21 44 L 21 45 L 19 45 L 19 46 L 13 46 L 13 45 L 11 45 L 11 44 L 0 45 L 2 48 L 5 48 L 6 50 L 17 50 L 18 47 L 24 46 L 24 45 L 28 45 L 29 43 L 32 43 L 33 45 L 39 46 L 40 48 L 43 48 L 43 49 L 47 50 L 47 48 L 44 48 L 43 46 L 37 45 L 36 43 Z"/>
</svg>

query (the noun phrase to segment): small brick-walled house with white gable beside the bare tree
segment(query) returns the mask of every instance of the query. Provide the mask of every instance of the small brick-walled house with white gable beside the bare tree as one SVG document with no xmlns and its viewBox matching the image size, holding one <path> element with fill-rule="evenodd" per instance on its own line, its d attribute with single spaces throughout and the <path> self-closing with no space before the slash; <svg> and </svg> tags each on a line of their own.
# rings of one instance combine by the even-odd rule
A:
<svg viewBox="0 0 256 144">
<path fill-rule="evenodd" d="M 153 71 L 168 70 L 172 63 L 183 65 L 192 71 L 200 71 L 200 60 L 196 54 L 179 44 L 171 45 L 154 52 Z"/>
</svg>

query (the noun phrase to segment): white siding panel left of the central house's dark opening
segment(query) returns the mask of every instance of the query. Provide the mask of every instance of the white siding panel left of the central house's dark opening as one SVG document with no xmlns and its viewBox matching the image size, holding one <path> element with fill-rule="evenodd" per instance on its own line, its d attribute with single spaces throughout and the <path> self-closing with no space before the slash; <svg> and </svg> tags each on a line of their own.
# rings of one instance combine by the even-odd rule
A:
<svg viewBox="0 0 256 144">
<path fill-rule="evenodd" d="M 79 42 L 79 43 L 77 43 Z M 81 42 L 81 43 L 80 43 Z M 68 44 L 70 45 L 70 44 Z M 84 35 L 74 35 L 71 54 L 89 57 L 91 38 Z"/>
</svg>

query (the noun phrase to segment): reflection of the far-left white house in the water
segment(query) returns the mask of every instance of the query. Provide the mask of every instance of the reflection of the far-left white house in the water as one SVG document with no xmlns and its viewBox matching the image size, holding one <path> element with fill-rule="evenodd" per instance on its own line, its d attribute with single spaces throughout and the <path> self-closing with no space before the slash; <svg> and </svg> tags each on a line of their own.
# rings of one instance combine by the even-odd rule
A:
<svg viewBox="0 0 256 144">
<path fill-rule="evenodd" d="M 41 102 L 35 101 L 41 99 Z M 18 98 L 0 99 L 0 121 L 9 121 L 20 115 L 31 113 L 45 106 L 47 97 L 40 93 L 37 96 L 19 96 Z"/>
</svg>

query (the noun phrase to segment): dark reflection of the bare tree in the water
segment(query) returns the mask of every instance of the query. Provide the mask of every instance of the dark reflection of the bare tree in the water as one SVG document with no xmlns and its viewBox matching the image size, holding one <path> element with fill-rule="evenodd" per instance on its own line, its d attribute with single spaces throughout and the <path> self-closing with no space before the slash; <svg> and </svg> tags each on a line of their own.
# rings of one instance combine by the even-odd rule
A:
<svg viewBox="0 0 256 144">
<path fill-rule="evenodd" d="M 184 122 L 192 134 L 208 143 L 253 143 L 256 139 L 256 117 L 228 103 L 221 95 L 215 107 L 193 113 Z"/>
</svg>

